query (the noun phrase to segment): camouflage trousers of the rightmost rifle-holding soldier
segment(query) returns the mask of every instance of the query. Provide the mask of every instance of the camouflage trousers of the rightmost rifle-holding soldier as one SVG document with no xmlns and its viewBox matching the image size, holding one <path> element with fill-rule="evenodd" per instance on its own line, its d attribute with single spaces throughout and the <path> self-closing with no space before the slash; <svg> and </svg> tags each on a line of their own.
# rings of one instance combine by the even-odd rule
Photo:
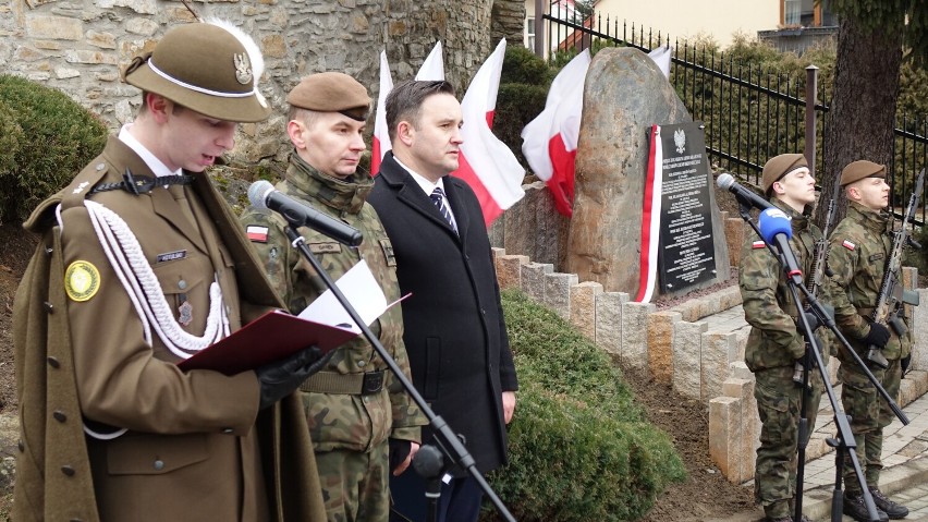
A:
<svg viewBox="0 0 928 522">
<path fill-rule="evenodd" d="M 893 400 L 898 400 L 902 365 L 899 360 L 889 363 L 886 369 L 872 366 L 870 372 L 887 393 Z M 857 442 L 857 461 L 860 463 L 860 471 L 864 472 L 867 486 L 877 487 L 880 482 L 880 471 L 883 469 L 880 460 L 883 451 L 883 428 L 893 420 L 892 410 L 855 362 L 842 362 L 838 368 L 838 378 L 842 383 L 841 405 L 844 408 L 844 413 L 851 415 L 851 432 Z M 860 483 L 857 482 L 857 475 L 847 456 L 844 457 L 844 487 L 848 496 L 860 494 Z"/>
</svg>

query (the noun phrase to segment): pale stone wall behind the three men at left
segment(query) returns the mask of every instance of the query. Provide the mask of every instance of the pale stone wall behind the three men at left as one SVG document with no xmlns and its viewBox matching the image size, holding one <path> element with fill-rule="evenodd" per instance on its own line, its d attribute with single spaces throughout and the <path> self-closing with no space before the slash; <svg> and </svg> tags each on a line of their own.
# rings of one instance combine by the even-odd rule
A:
<svg viewBox="0 0 928 522">
<path fill-rule="evenodd" d="M 463 87 L 489 54 L 493 0 L 203 0 L 202 17 L 240 25 L 264 51 L 261 92 L 278 108 L 268 121 L 242 125 L 234 159 L 284 159 L 284 96 L 304 75 L 342 71 L 376 99 L 379 54 L 393 81 L 412 78 L 437 40 L 448 80 Z M 517 2 L 497 0 L 500 31 L 513 31 Z M 524 9 L 524 8 L 523 8 Z M 59 88 L 115 130 L 131 120 L 139 92 L 120 69 L 149 50 L 164 31 L 193 14 L 164 0 L 5 0 L 0 3 L 0 66 Z M 520 25 L 521 29 L 521 25 Z M 520 38 L 512 45 L 521 45 Z M 373 128 L 373 124 L 371 124 Z"/>
</svg>

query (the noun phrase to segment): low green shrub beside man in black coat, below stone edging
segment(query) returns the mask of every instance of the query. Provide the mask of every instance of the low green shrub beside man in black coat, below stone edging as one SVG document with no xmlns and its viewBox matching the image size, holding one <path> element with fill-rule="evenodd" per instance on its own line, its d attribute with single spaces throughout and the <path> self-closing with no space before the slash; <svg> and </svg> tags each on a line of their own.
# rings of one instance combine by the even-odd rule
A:
<svg viewBox="0 0 928 522">
<path fill-rule="evenodd" d="M 644 515 L 685 476 L 668 435 L 645 421 L 621 371 L 570 324 L 517 291 L 503 292 L 503 309 L 520 392 L 510 463 L 489 477 L 493 489 L 523 521 Z"/>
</svg>

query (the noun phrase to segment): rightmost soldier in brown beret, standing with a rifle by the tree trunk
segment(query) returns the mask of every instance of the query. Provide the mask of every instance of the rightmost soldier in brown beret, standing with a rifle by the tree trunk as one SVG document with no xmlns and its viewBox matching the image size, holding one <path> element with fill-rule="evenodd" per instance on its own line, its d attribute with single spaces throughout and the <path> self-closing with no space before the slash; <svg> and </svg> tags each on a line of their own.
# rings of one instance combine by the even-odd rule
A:
<svg viewBox="0 0 928 522">
<path fill-rule="evenodd" d="M 892 221 L 884 210 L 889 205 L 886 175 L 886 166 L 866 160 L 854 161 L 841 171 L 847 215 L 829 239 L 828 267 L 833 272 L 831 282 L 838 327 L 863 361 L 867 361 L 869 345 L 882 348 L 889 367 L 867 364 L 889 396 L 896 400 L 902 379 L 901 360 L 908 355 L 911 341 L 907 335 L 900 338 L 892 329 L 869 320 L 892 247 Z M 851 415 L 857 460 L 880 511 L 880 520 L 905 518 L 908 509 L 879 490 L 883 428 L 892 421 L 892 410 L 843 348 L 838 357 L 841 361 L 838 377 L 843 384 L 841 402 L 845 413 Z M 869 520 L 850 458 L 844 460 L 844 514 L 854 520 Z"/>
</svg>

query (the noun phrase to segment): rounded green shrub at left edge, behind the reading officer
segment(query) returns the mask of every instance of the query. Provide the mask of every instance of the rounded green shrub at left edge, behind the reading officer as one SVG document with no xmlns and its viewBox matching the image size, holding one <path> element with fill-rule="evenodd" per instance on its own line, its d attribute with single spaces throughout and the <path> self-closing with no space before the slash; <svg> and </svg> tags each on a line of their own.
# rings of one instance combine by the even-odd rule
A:
<svg viewBox="0 0 928 522">
<path fill-rule="evenodd" d="M 23 221 L 103 149 L 108 131 L 60 90 L 19 76 L 0 75 L 0 221 Z"/>
</svg>

